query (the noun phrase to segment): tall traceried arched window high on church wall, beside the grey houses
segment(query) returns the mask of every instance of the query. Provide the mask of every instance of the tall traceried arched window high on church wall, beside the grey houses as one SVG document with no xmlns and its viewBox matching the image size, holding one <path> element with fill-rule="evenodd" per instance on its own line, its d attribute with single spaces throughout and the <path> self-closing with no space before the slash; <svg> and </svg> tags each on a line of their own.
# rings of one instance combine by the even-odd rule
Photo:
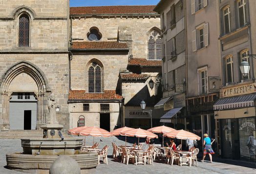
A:
<svg viewBox="0 0 256 174">
<path fill-rule="evenodd" d="M 162 59 L 162 40 L 160 34 L 157 31 L 152 31 L 148 39 L 149 43 L 149 60 L 161 60 Z"/>
</svg>

